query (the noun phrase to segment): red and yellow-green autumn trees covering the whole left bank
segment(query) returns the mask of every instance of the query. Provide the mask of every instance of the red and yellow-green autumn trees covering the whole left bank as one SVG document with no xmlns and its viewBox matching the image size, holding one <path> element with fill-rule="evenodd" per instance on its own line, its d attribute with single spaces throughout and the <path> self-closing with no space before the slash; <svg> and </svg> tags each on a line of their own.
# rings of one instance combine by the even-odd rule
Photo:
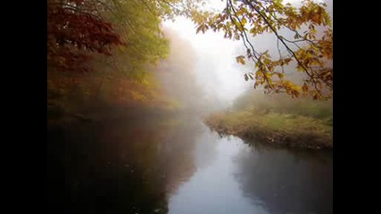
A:
<svg viewBox="0 0 381 214">
<path fill-rule="evenodd" d="M 169 53 L 160 28 L 169 11 L 156 3 L 48 1 L 49 116 L 106 106 L 177 108 L 148 66 Z"/>
</svg>

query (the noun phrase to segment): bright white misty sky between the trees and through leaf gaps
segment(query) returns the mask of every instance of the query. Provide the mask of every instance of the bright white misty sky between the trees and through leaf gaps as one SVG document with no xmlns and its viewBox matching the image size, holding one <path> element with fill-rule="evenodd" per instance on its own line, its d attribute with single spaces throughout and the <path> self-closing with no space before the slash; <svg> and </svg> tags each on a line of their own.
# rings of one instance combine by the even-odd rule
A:
<svg viewBox="0 0 381 214">
<path fill-rule="evenodd" d="M 317 0 L 328 4 L 327 11 L 332 16 L 333 0 Z M 224 1 L 211 0 L 206 6 L 221 10 Z M 300 0 L 286 0 L 284 3 L 297 4 Z M 236 56 L 240 54 L 242 41 L 232 41 L 223 37 L 222 33 L 207 31 L 206 33 L 195 33 L 195 24 L 179 17 L 176 21 L 165 21 L 165 28 L 172 29 L 179 37 L 189 42 L 195 49 L 197 59 L 195 60 L 194 72 L 198 85 L 203 87 L 206 96 L 218 98 L 221 102 L 231 104 L 233 100 L 241 95 L 246 88 L 253 86 L 253 81 L 246 82 L 244 73 L 252 71 L 250 68 L 240 66 L 236 63 Z M 275 38 L 262 36 L 254 40 L 260 49 L 275 50 Z"/>
</svg>

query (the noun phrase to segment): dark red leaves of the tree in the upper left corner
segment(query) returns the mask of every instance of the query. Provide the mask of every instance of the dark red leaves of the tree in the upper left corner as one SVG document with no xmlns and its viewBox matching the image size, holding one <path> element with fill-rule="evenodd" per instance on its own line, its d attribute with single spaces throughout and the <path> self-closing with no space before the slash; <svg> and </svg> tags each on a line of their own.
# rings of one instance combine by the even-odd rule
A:
<svg viewBox="0 0 381 214">
<path fill-rule="evenodd" d="M 84 71 L 89 52 L 110 54 L 120 45 L 112 23 L 104 21 L 100 1 L 49 0 L 47 59 L 60 70 Z"/>
</svg>

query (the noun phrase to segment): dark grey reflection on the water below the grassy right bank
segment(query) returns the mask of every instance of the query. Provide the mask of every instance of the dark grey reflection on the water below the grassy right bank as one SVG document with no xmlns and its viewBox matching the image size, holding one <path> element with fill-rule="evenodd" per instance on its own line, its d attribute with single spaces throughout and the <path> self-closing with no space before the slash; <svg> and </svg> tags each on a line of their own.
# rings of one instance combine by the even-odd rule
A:
<svg viewBox="0 0 381 214">
<path fill-rule="evenodd" d="M 332 152 L 246 149 L 235 161 L 244 195 L 269 213 L 333 212 Z"/>
</svg>

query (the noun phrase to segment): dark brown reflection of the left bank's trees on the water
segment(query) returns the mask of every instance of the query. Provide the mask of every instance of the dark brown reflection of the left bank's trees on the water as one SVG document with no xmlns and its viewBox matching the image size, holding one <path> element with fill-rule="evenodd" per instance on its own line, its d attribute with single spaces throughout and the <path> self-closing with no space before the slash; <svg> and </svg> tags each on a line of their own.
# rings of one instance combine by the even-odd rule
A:
<svg viewBox="0 0 381 214">
<path fill-rule="evenodd" d="M 195 170 L 197 128 L 167 120 L 49 130 L 50 212 L 167 213 L 167 194 Z"/>
</svg>

